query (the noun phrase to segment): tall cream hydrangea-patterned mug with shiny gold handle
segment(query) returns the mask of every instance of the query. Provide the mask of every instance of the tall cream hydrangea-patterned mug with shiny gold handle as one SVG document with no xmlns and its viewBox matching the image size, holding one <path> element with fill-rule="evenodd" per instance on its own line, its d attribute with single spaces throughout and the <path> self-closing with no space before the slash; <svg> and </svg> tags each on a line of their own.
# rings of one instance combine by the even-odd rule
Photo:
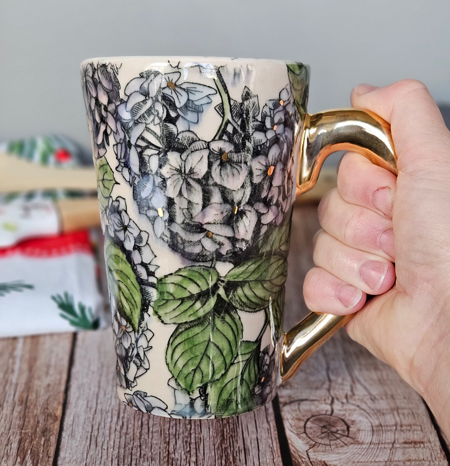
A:
<svg viewBox="0 0 450 466">
<path fill-rule="evenodd" d="M 308 115 L 301 63 L 116 57 L 81 68 L 120 399 L 173 418 L 266 404 L 348 320 L 311 313 L 283 332 L 295 195 L 343 149 L 396 173 L 389 125 L 355 109 Z"/>
</svg>

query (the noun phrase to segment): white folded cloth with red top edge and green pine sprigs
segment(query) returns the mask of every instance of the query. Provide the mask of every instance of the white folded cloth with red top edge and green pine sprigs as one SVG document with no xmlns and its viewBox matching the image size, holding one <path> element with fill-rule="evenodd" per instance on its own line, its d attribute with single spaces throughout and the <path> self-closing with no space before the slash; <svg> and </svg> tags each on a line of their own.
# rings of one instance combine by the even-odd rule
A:
<svg viewBox="0 0 450 466">
<path fill-rule="evenodd" d="M 0 249 L 0 337 L 105 325 L 87 231 Z"/>
</svg>

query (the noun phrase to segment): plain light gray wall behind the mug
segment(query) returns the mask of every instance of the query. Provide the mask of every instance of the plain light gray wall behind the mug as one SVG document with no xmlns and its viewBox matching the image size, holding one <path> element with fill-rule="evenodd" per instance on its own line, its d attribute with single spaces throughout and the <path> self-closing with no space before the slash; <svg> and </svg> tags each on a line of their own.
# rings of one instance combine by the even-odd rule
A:
<svg viewBox="0 0 450 466">
<path fill-rule="evenodd" d="M 79 63 L 108 55 L 309 63 L 310 112 L 402 78 L 450 103 L 450 1 L 4 1 L 0 140 L 62 133 L 89 147 Z"/>
</svg>

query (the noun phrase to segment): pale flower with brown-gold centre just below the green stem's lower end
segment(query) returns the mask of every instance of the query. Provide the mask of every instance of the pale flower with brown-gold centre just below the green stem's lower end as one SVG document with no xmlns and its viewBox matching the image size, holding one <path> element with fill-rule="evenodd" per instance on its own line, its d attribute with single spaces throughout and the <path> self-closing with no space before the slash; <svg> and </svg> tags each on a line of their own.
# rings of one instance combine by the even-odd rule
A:
<svg viewBox="0 0 450 466">
<path fill-rule="evenodd" d="M 239 189 L 247 176 L 245 156 L 235 152 L 234 145 L 229 141 L 211 141 L 209 147 L 214 181 L 231 190 Z"/>
</svg>

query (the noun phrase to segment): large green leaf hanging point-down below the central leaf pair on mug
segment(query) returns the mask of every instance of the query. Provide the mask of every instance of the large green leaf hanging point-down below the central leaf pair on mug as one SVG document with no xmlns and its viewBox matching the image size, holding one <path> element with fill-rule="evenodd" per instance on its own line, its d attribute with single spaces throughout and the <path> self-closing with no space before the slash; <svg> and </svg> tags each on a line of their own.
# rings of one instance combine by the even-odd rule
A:
<svg viewBox="0 0 450 466">
<path fill-rule="evenodd" d="M 219 302 L 223 308 L 225 303 Z M 194 322 L 177 326 L 166 350 L 167 367 L 178 384 L 192 392 L 225 373 L 238 354 L 241 338 L 242 322 L 236 309 L 220 315 L 212 310 Z"/>
</svg>

